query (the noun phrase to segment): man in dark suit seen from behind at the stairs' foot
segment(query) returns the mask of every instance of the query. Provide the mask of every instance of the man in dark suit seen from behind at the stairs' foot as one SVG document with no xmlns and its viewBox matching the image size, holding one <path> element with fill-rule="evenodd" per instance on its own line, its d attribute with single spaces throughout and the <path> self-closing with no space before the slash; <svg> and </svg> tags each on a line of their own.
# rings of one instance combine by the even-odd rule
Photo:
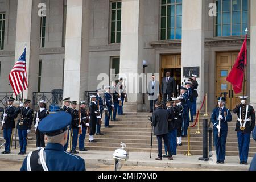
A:
<svg viewBox="0 0 256 182">
<path fill-rule="evenodd" d="M 166 145 L 168 151 L 168 159 L 173 160 L 172 152 L 170 148 L 170 142 L 168 139 L 168 112 L 162 108 L 162 103 L 156 101 L 155 103 L 156 110 L 152 115 L 152 126 L 154 126 L 154 135 L 158 139 L 158 158 L 155 160 L 162 160 L 162 140 L 164 140 L 164 145 Z"/>
</svg>

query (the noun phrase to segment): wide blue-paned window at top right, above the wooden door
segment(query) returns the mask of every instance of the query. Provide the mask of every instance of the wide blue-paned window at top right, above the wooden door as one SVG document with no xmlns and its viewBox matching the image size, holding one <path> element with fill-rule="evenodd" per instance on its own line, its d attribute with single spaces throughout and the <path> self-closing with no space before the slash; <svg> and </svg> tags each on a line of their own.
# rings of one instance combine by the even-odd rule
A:
<svg viewBox="0 0 256 182">
<path fill-rule="evenodd" d="M 245 35 L 248 26 L 248 0 L 216 0 L 216 36 Z"/>
</svg>

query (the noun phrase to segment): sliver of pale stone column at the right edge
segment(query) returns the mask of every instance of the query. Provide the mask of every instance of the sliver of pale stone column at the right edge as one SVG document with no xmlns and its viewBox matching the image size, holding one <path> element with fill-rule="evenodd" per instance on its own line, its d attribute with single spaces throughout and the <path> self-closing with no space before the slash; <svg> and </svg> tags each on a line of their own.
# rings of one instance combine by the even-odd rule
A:
<svg viewBox="0 0 256 182">
<path fill-rule="evenodd" d="M 256 107 L 256 1 L 251 1 L 251 28 L 250 35 L 251 35 L 251 55 L 250 55 L 250 64 L 247 67 L 250 67 L 250 102 L 253 107 Z M 249 56 L 249 55 L 248 55 Z"/>
</svg>

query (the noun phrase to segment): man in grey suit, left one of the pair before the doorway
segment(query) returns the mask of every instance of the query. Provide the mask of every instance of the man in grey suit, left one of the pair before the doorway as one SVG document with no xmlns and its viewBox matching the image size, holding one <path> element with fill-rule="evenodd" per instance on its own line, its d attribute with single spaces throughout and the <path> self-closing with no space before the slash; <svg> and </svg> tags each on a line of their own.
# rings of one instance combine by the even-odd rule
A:
<svg viewBox="0 0 256 182">
<path fill-rule="evenodd" d="M 155 80 L 155 75 L 152 75 L 152 80 L 148 82 L 147 85 L 148 100 L 150 100 L 150 113 L 153 112 L 153 106 L 155 105 L 155 102 L 158 100 L 159 90 L 159 82 Z"/>
</svg>

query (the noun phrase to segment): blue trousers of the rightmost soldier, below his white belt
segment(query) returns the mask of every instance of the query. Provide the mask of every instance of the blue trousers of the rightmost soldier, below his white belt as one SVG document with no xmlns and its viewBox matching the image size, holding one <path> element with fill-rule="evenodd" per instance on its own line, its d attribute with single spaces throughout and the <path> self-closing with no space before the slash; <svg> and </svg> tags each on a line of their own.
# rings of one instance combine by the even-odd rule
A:
<svg viewBox="0 0 256 182">
<path fill-rule="evenodd" d="M 250 138 L 251 133 L 242 133 L 242 131 L 237 132 L 240 162 L 247 162 L 248 160 Z"/>
</svg>

